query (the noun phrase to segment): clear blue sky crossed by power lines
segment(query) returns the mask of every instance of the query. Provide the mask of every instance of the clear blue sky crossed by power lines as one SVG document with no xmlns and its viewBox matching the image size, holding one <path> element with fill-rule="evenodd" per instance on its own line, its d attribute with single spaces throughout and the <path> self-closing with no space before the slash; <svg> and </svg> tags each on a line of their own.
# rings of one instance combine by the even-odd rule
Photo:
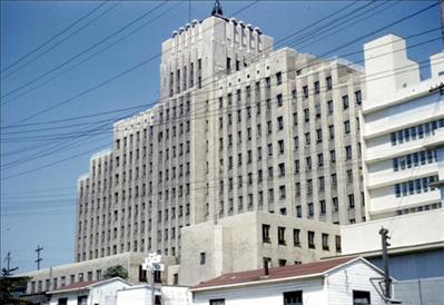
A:
<svg viewBox="0 0 444 305">
<path fill-rule="evenodd" d="M 394 33 L 407 38 L 427 78 L 428 57 L 442 50 L 438 7 L 427 9 L 437 1 L 220 2 L 225 16 L 259 27 L 276 48 L 325 59 L 363 66 L 363 45 Z M 111 147 L 114 121 L 157 102 L 161 42 L 211 8 L 1 1 L 2 267 L 10 252 L 11 267 L 36 269 L 38 245 L 42 268 L 73 262 L 77 178 L 92 154 Z"/>
</svg>

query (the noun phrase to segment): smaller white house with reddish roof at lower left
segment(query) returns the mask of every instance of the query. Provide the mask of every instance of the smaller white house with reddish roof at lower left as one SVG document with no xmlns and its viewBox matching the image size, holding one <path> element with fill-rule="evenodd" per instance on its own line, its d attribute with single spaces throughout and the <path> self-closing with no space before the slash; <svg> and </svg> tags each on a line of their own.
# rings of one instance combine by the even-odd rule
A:
<svg viewBox="0 0 444 305">
<path fill-rule="evenodd" d="M 105 281 L 78 282 L 49 292 L 50 305 L 116 305 L 117 291 L 132 286 L 114 277 Z"/>
</svg>

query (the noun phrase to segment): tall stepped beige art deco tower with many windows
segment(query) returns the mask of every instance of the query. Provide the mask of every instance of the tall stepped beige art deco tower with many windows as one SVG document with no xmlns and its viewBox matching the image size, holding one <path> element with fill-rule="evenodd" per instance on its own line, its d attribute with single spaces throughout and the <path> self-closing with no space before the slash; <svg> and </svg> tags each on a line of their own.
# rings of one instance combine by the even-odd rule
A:
<svg viewBox="0 0 444 305">
<path fill-rule="evenodd" d="M 180 257 L 181 228 L 251 210 L 365 220 L 359 67 L 213 14 L 162 43 L 160 101 L 114 126 L 78 180 L 77 262 Z"/>
</svg>

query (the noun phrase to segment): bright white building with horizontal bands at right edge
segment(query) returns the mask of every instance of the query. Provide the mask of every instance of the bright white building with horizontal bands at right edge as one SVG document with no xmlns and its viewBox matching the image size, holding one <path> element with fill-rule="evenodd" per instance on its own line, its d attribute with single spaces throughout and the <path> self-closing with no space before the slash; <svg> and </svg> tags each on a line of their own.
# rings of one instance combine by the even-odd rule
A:
<svg viewBox="0 0 444 305">
<path fill-rule="evenodd" d="M 366 99 L 362 142 L 368 219 L 442 207 L 437 134 L 444 128 L 443 55 L 432 57 L 432 78 L 420 81 L 405 41 L 389 35 L 364 46 Z M 438 71 L 440 70 L 440 71 Z"/>
</svg>

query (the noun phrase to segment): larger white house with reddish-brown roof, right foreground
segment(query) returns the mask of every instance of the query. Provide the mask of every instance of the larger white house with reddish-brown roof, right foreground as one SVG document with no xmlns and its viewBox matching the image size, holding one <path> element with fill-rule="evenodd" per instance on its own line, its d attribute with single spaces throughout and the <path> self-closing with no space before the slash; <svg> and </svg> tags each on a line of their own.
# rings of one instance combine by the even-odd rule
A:
<svg viewBox="0 0 444 305">
<path fill-rule="evenodd" d="M 195 305 L 386 304 L 383 272 L 361 257 L 225 274 L 191 288 Z"/>
</svg>

